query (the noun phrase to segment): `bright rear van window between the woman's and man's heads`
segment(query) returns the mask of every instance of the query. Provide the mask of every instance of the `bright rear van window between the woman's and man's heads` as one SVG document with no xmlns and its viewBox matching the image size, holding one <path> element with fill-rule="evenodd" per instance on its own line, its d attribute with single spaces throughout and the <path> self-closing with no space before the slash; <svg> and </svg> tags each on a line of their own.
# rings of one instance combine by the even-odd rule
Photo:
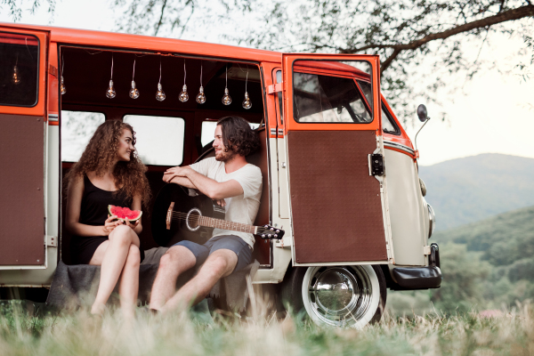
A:
<svg viewBox="0 0 534 356">
<path fill-rule="evenodd" d="M 180 166 L 183 160 L 185 120 L 182 117 L 125 115 L 134 127 L 135 150 L 145 165 Z"/>
</svg>

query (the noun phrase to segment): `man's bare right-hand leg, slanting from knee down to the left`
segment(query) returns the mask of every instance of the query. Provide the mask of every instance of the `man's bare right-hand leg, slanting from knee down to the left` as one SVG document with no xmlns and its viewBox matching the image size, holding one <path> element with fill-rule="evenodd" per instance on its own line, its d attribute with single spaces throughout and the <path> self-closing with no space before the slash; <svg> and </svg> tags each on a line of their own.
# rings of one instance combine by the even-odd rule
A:
<svg viewBox="0 0 534 356">
<path fill-rule="evenodd" d="M 192 255 L 192 254 L 191 254 Z M 168 300 L 161 312 L 171 312 L 177 308 L 186 308 L 202 301 L 214 287 L 217 280 L 231 274 L 238 264 L 238 255 L 227 249 L 214 251 L 207 257 L 198 274 L 187 282 Z"/>
</svg>

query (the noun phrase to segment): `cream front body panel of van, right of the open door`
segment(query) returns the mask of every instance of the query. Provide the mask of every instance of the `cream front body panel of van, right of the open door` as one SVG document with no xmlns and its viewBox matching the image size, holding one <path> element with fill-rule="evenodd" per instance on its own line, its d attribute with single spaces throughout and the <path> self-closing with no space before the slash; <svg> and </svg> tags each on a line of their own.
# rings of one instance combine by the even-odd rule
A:
<svg viewBox="0 0 534 356">
<path fill-rule="evenodd" d="M 395 264 L 425 265 L 425 212 L 416 165 L 408 155 L 384 151 Z"/>
</svg>

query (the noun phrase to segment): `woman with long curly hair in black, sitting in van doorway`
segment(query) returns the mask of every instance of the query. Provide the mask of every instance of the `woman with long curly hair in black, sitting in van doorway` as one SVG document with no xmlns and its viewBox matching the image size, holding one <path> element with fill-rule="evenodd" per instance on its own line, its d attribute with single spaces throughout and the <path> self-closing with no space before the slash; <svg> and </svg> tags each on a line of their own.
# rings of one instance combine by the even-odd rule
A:
<svg viewBox="0 0 534 356">
<path fill-rule="evenodd" d="M 65 177 L 69 187 L 65 225 L 74 235 L 74 263 L 101 266 L 93 314 L 104 312 L 118 281 L 121 308 L 126 317 L 134 316 L 141 219 L 130 223 L 108 215 L 109 205 L 141 210 L 149 202 L 150 186 L 144 174 L 147 168 L 137 158 L 134 145 L 131 125 L 106 121 L 96 129 L 82 157 Z"/>
</svg>

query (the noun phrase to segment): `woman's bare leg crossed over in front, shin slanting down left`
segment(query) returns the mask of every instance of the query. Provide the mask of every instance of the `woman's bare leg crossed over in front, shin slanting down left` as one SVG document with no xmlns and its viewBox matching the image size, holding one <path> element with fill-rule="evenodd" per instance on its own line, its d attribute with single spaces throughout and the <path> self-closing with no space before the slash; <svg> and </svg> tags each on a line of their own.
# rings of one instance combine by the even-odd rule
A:
<svg viewBox="0 0 534 356">
<path fill-rule="evenodd" d="M 107 246 L 101 248 L 104 244 Z M 101 279 L 91 308 L 93 314 L 101 314 L 104 311 L 109 295 L 113 292 L 123 271 L 132 244 L 139 247 L 137 234 L 128 226 L 120 225 L 111 231 L 109 241 L 102 243 L 94 252 L 89 264 L 101 265 Z"/>
</svg>

